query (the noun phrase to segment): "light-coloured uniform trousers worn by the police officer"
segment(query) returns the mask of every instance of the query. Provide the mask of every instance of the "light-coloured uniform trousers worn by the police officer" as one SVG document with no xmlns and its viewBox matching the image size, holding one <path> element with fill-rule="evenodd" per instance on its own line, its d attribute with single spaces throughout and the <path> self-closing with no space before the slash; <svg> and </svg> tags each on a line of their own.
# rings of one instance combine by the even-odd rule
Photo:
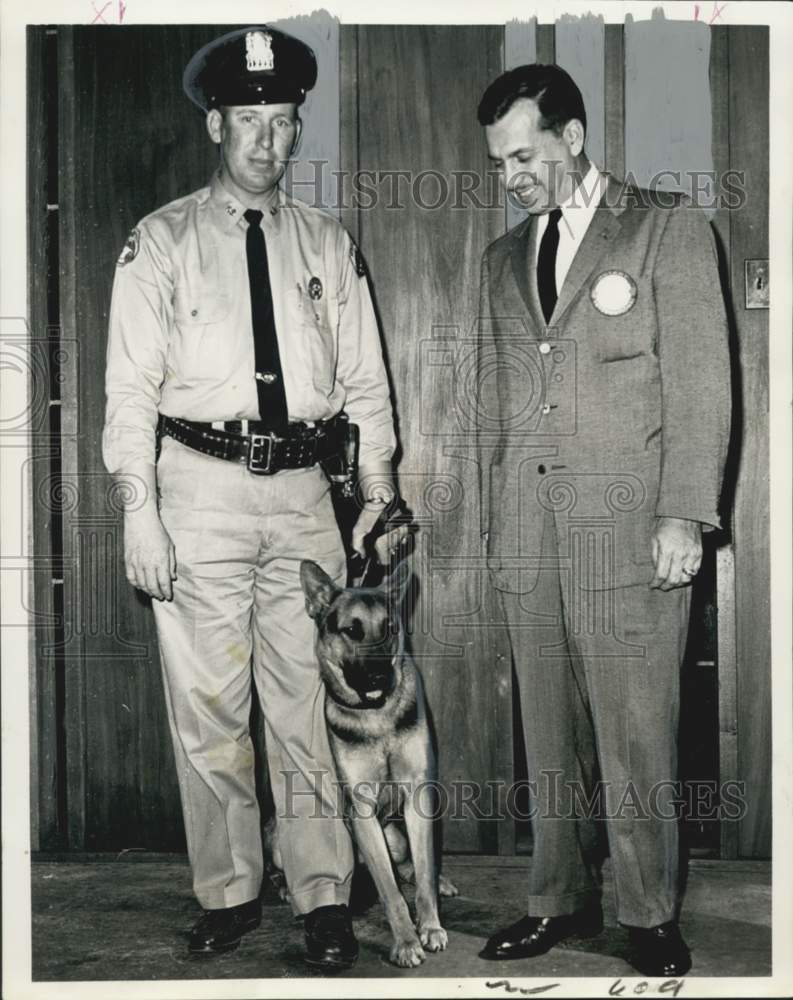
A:
<svg viewBox="0 0 793 1000">
<path fill-rule="evenodd" d="M 256 476 L 169 437 L 157 480 L 177 579 L 173 601 L 154 611 L 198 901 L 235 906 L 261 888 L 255 681 L 293 909 L 346 903 L 352 845 L 299 577 L 300 561 L 313 559 L 344 583 L 328 481 L 318 466 Z"/>
</svg>

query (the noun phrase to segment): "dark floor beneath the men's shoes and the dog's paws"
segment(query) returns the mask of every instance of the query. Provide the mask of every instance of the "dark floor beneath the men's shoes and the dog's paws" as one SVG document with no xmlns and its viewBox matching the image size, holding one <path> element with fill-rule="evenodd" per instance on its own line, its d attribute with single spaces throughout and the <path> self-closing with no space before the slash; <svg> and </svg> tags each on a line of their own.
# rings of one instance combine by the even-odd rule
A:
<svg viewBox="0 0 793 1000">
<path fill-rule="evenodd" d="M 635 975 L 616 925 L 608 868 L 606 928 L 528 961 L 484 962 L 477 952 L 498 927 L 523 912 L 530 861 L 445 859 L 460 895 L 443 900 L 447 951 L 418 969 L 388 962 L 390 935 L 376 902 L 356 917 L 361 954 L 354 978 L 503 978 Z M 262 926 L 225 956 L 192 958 L 184 932 L 199 916 L 190 870 L 180 857 L 156 860 L 36 861 L 33 865 L 33 980 L 263 979 L 316 976 L 302 962 L 302 929 L 269 889 Z M 694 976 L 771 973 L 771 868 L 760 862 L 692 862 L 681 927 Z M 319 985 L 319 984 L 318 984 Z"/>
</svg>

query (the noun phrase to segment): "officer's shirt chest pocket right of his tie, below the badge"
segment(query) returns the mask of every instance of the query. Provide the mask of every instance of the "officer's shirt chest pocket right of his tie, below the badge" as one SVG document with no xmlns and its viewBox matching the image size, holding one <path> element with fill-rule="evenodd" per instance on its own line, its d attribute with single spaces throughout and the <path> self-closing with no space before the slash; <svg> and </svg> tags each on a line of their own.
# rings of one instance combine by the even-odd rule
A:
<svg viewBox="0 0 793 1000">
<path fill-rule="evenodd" d="M 317 391 L 332 392 L 338 360 L 337 301 L 327 292 L 319 299 L 312 299 L 298 287 L 287 292 L 285 305 L 290 345 L 294 347 L 301 375 Z"/>
</svg>

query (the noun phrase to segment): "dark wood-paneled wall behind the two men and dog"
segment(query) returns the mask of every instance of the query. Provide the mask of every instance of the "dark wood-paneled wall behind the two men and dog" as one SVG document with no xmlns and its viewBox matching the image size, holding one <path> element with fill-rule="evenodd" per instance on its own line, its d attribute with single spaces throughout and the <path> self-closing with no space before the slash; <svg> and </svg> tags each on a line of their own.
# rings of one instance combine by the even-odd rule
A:
<svg viewBox="0 0 793 1000">
<path fill-rule="evenodd" d="M 61 431 L 35 446 L 37 552 L 54 558 L 55 570 L 36 580 L 34 847 L 183 846 L 152 615 L 124 579 L 120 516 L 101 464 L 103 372 L 113 264 L 129 227 L 205 184 L 214 165 L 181 74 L 195 49 L 223 30 L 61 27 L 49 54 L 45 29 L 30 33 L 30 318 L 34 338 L 46 342 L 54 311 L 72 352 L 59 389 Z M 553 60 L 552 25 L 525 37 L 537 59 Z M 509 651 L 483 572 L 476 467 L 458 433 L 465 414 L 454 383 L 477 318 L 479 259 L 505 229 L 503 208 L 475 208 L 454 188 L 463 171 L 487 174 L 476 106 L 502 68 L 504 30 L 343 26 L 339 40 L 341 166 L 348 172 L 341 216 L 371 272 L 399 418 L 400 483 L 422 528 L 411 643 L 446 784 L 509 783 Z M 621 26 L 606 26 L 603 46 L 605 165 L 619 174 Z M 53 51 L 57 112 L 44 82 Z M 722 763 L 747 782 L 748 798 L 736 836 L 723 844 L 727 853 L 748 856 L 770 851 L 768 330 L 767 313 L 743 304 L 744 259 L 768 255 L 767 53 L 763 29 L 713 30 L 715 166 L 745 170 L 750 196 L 742 210 L 714 220 L 731 285 L 739 389 L 734 525 L 719 563 L 720 659 L 732 671 L 721 706 Z M 356 171 L 380 172 L 373 205 L 350 198 Z M 410 172 L 407 188 L 399 171 Z M 424 207 L 411 190 L 422 171 Z M 394 192 L 403 207 L 393 206 Z M 487 186 L 478 192 L 485 200 L 490 193 Z M 61 488 L 51 480 L 59 447 Z M 61 536 L 62 567 L 48 548 Z M 58 645 L 61 609 L 65 639 Z M 511 853 L 514 825 L 463 809 L 447 818 L 445 845 Z"/>
</svg>

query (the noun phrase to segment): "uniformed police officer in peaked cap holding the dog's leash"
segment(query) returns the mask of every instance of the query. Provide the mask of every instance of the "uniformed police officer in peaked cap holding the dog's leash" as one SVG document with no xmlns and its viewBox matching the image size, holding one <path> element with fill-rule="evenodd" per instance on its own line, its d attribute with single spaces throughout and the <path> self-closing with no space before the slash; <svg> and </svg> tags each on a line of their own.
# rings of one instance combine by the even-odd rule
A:
<svg viewBox="0 0 793 1000">
<path fill-rule="evenodd" d="M 116 267 L 103 454 L 129 485 L 128 580 L 155 598 L 195 894 L 190 951 L 237 946 L 261 919 L 262 848 L 248 729 L 261 701 L 279 843 L 306 958 L 349 967 L 353 854 L 299 582 L 339 583 L 345 553 L 320 463 L 359 428 L 363 551 L 394 497 L 393 415 L 355 244 L 279 180 L 317 75 L 314 53 L 261 26 L 202 48 L 185 91 L 220 167 L 146 216 Z M 157 430 L 159 459 L 155 460 Z"/>
</svg>

